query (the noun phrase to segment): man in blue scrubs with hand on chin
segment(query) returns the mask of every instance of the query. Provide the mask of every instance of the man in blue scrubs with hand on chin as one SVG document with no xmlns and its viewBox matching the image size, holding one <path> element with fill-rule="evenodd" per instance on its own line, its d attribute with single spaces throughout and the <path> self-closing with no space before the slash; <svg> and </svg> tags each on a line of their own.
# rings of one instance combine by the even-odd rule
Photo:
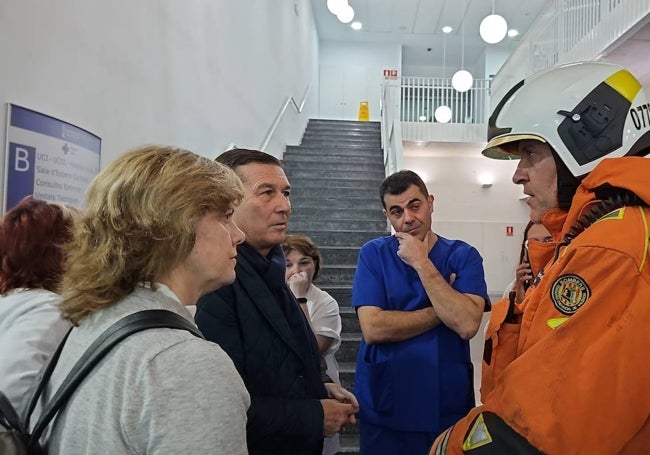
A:
<svg viewBox="0 0 650 455">
<path fill-rule="evenodd" d="M 469 339 L 489 306 L 483 260 L 431 230 L 433 196 L 416 173 L 387 177 L 379 194 L 396 233 L 361 248 L 352 286 L 361 454 L 425 455 L 475 405 Z"/>
</svg>

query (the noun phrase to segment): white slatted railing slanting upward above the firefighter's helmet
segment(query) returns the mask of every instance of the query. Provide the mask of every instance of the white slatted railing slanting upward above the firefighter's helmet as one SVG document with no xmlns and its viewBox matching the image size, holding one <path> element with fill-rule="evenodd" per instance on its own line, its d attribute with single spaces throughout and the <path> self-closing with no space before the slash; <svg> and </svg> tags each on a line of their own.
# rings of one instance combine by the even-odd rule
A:
<svg viewBox="0 0 650 455">
<path fill-rule="evenodd" d="M 597 59 L 649 15 L 650 0 L 549 0 L 494 77 L 492 107 L 512 86 L 537 71 Z"/>
</svg>

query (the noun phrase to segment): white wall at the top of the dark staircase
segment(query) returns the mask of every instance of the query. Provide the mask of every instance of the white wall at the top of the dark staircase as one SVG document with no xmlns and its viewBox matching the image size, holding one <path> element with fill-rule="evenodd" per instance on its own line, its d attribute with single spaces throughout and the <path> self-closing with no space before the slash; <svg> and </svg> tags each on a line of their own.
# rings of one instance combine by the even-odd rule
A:
<svg viewBox="0 0 650 455">
<path fill-rule="evenodd" d="M 397 44 L 321 41 L 319 117 L 357 120 L 359 103 L 368 101 L 370 120 L 379 121 L 383 70 L 401 75 L 401 62 Z"/>
</svg>

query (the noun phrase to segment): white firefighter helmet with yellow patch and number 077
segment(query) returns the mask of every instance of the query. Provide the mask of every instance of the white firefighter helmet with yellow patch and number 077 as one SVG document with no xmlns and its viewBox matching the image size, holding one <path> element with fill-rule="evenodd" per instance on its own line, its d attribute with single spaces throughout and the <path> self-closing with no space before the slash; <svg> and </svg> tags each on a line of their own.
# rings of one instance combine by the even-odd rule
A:
<svg viewBox="0 0 650 455">
<path fill-rule="evenodd" d="M 490 158 L 517 159 L 516 143 L 548 143 L 580 177 L 603 159 L 650 152 L 650 104 L 637 79 L 618 65 L 579 62 L 524 79 L 490 116 Z"/>
</svg>

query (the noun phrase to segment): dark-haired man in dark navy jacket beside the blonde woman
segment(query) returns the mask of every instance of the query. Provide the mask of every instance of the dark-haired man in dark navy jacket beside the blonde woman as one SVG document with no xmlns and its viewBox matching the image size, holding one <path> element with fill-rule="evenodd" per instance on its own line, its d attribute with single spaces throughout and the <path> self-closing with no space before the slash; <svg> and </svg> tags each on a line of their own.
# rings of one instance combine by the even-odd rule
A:
<svg viewBox="0 0 650 455">
<path fill-rule="evenodd" d="M 266 153 L 233 149 L 217 161 L 244 183 L 233 221 L 246 241 L 235 282 L 199 301 L 196 323 L 230 355 L 251 395 L 251 455 L 320 455 L 324 436 L 354 423 L 358 403 L 323 375 L 316 339 L 285 283 L 291 186 Z"/>
</svg>

